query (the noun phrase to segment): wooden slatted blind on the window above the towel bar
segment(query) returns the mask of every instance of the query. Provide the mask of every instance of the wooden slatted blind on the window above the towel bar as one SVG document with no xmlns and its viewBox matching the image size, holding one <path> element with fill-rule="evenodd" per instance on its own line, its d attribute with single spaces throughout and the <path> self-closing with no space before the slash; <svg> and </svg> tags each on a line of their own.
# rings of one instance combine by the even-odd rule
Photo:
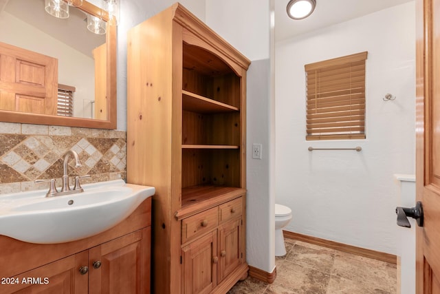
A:
<svg viewBox="0 0 440 294">
<path fill-rule="evenodd" d="M 306 140 L 365 138 L 367 53 L 305 65 Z"/>
</svg>

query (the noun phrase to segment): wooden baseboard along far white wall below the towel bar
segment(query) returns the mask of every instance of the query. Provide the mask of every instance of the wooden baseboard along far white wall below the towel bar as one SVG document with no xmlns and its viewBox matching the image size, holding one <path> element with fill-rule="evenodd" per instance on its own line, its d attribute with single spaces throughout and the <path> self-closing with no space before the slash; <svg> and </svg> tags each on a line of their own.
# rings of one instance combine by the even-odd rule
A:
<svg viewBox="0 0 440 294">
<path fill-rule="evenodd" d="M 331 249 L 336 249 L 339 251 L 364 256 L 366 258 L 373 258 L 375 260 L 382 260 L 383 262 L 389 262 L 392 264 L 397 264 L 397 256 L 389 253 L 384 253 L 380 251 L 374 251 L 371 249 L 364 249 L 357 246 L 352 246 L 348 244 L 343 244 L 340 242 L 325 240 L 321 238 L 311 237 L 309 235 L 303 235 L 300 233 L 294 233 L 290 231 L 283 231 L 285 238 L 290 238 L 298 241 L 307 242 L 310 244 L 315 244 L 319 246 L 328 247 Z"/>
</svg>

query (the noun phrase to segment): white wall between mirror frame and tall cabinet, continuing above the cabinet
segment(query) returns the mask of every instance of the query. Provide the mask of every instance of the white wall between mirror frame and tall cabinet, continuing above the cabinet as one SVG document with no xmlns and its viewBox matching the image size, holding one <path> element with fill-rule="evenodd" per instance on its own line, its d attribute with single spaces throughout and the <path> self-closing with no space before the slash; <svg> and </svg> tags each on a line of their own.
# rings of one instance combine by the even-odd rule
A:
<svg viewBox="0 0 440 294">
<path fill-rule="evenodd" d="M 118 129 L 126 131 L 126 36 L 142 21 L 172 6 L 176 0 L 122 0 L 118 25 Z M 205 0 L 179 0 L 196 17 L 205 21 Z"/>
</svg>

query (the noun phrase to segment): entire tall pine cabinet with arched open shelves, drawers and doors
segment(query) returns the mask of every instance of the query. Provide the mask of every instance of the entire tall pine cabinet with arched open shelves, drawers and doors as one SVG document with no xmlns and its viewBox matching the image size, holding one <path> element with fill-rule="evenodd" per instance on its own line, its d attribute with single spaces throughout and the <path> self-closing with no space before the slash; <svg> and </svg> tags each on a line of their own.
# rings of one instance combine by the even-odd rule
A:
<svg viewBox="0 0 440 294">
<path fill-rule="evenodd" d="M 127 182 L 154 185 L 153 293 L 226 293 L 245 262 L 250 61 L 176 3 L 128 36 Z"/>
</svg>

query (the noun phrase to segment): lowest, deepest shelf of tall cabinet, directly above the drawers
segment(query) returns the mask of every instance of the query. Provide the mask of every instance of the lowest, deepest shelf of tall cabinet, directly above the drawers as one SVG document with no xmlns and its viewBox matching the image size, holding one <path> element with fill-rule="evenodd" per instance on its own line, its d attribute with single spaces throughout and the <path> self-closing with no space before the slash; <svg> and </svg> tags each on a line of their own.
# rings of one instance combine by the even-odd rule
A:
<svg viewBox="0 0 440 294">
<path fill-rule="evenodd" d="M 181 209 L 176 211 L 175 218 L 181 220 L 200 211 L 216 207 L 234 198 L 242 196 L 246 189 L 238 187 L 224 187 L 201 185 L 181 189 Z"/>
</svg>

